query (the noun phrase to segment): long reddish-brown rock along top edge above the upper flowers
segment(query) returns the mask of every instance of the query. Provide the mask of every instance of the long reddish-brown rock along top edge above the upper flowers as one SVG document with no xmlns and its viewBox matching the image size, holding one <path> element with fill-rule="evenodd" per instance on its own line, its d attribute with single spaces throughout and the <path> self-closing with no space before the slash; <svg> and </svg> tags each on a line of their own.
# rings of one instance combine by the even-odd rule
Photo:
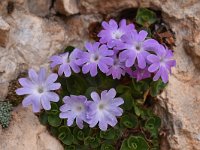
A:
<svg viewBox="0 0 200 150">
<path fill-rule="evenodd" d="M 136 0 L 80 0 L 81 14 L 108 14 L 138 6 Z"/>
</svg>

